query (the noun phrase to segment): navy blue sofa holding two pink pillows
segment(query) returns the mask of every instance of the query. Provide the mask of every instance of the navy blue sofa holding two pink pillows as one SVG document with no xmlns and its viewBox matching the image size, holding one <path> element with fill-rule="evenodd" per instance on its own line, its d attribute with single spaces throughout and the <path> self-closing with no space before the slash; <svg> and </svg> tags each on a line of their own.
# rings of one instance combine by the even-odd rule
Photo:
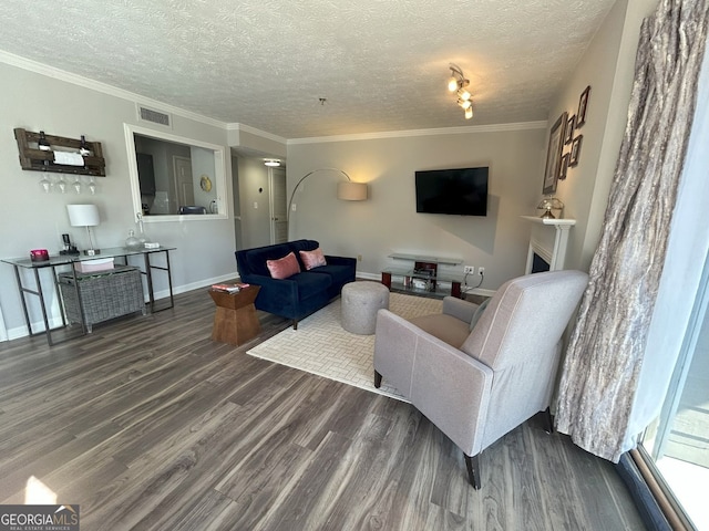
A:
<svg viewBox="0 0 709 531">
<path fill-rule="evenodd" d="M 255 305 L 258 310 L 298 321 L 326 306 L 340 294 L 342 287 L 354 281 L 357 260 L 325 256 L 326 266 L 306 271 L 299 251 L 312 251 L 320 247 L 315 240 L 296 240 L 274 246 L 236 251 L 236 267 L 242 282 L 260 285 Z M 266 260 L 278 260 L 294 252 L 300 272 L 287 279 L 274 279 Z"/>
</svg>

